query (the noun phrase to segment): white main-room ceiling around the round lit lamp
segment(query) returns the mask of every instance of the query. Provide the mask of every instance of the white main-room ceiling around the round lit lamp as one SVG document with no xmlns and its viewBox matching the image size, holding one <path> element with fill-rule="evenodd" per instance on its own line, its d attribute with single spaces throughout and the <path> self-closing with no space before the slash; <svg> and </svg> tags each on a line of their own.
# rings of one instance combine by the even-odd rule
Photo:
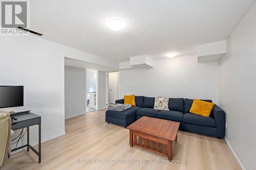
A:
<svg viewBox="0 0 256 170">
<path fill-rule="evenodd" d="M 42 38 L 78 50 L 128 61 L 196 54 L 197 45 L 224 40 L 254 0 L 30 0 L 30 28 Z M 126 27 L 105 25 L 120 17 Z"/>
</svg>

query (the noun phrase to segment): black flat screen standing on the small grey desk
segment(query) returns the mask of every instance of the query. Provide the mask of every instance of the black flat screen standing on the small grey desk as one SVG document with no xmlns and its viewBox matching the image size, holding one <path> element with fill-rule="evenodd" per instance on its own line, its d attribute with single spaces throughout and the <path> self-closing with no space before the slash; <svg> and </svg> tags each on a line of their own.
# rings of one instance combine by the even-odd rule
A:
<svg viewBox="0 0 256 170">
<path fill-rule="evenodd" d="M 0 86 L 0 108 L 24 106 L 23 86 Z"/>
</svg>

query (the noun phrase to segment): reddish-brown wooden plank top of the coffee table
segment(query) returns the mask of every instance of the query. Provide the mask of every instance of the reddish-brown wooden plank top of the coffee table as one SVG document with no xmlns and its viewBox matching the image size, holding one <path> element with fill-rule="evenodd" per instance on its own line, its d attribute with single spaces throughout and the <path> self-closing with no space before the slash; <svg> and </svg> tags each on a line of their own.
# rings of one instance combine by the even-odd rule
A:
<svg viewBox="0 0 256 170">
<path fill-rule="evenodd" d="M 126 128 L 175 141 L 179 126 L 179 122 L 143 116 Z"/>
</svg>

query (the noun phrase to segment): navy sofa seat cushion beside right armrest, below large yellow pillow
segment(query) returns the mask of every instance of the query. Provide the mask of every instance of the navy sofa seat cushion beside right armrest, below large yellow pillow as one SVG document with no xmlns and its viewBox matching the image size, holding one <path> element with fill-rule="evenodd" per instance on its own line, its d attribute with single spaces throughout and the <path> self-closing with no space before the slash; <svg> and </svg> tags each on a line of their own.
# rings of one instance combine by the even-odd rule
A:
<svg viewBox="0 0 256 170">
<path fill-rule="evenodd" d="M 184 113 L 183 122 L 194 125 L 216 127 L 216 122 L 211 117 L 200 116 L 193 113 Z"/>
</svg>

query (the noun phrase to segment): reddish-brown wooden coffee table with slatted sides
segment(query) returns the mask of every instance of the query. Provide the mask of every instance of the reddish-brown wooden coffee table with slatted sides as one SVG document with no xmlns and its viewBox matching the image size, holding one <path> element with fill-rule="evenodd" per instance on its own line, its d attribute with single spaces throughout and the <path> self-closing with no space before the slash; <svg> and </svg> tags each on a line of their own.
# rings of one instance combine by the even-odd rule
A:
<svg viewBox="0 0 256 170">
<path fill-rule="evenodd" d="M 130 147 L 136 145 L 172 160 L 172 143 L 177 141 L 179 126 L 179 122 L 143 116 L 127 127 L 130 130 Z"/>
</svg>

